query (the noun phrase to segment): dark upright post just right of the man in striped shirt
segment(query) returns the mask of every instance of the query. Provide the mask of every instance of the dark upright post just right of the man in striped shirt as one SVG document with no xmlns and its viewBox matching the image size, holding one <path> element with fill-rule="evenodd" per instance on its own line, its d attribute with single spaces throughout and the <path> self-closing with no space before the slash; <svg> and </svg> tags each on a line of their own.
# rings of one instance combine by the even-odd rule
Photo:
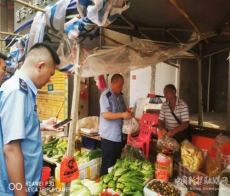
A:
<svg viewBox="0 0 230 196">
<path fill-rule="evenodd" d="M 203 126 L 203 103 L 202 103 L 202 43 L 199 43 L 200 58 L 198 60 L 198 124 Z"/>
</svg>

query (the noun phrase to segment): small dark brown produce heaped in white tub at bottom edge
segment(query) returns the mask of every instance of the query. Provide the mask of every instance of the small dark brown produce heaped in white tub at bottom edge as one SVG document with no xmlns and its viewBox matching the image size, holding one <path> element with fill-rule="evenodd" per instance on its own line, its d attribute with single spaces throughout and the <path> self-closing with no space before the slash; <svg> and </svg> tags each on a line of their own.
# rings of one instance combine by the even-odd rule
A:
<svg viewBox="0 0 230 196">
<path fill-rule="evenodd" d="M 181 191 L 167 182 L 153 181 L 149 183 L 148 189 L 164 196 L 180 196 Z"/>
</svg>

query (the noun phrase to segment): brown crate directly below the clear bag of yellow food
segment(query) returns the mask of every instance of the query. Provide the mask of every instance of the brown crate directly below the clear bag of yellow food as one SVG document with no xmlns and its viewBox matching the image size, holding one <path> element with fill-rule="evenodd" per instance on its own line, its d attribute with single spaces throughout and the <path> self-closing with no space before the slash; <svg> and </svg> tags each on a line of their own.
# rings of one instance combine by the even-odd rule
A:
<svg viewBox="0 0 230 196">
<path fill-rule="evenodd" d="M 191 191 L 200 191 L 205 196 L 215 196 L 218 194 L 218 178 L 209 178 L 202 172 L 190 172 L 182 163 L 179 164 L 179 180 L 189 186 Z"/>
</svg>

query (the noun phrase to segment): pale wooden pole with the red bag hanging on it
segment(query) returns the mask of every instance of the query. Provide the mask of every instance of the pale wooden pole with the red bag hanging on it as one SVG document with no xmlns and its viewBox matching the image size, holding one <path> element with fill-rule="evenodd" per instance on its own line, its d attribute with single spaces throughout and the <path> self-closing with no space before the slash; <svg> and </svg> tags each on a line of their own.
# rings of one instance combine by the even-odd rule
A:
<svg viewBox="0 0 230 196">
<path fill-rule="evenodd" d="M 79 56 L 80 56 L 80 45 L 76 44 L 75 65 L 77 66 L 79 65 Z M 78 121 L 79 96 L 80 96 L 80 76 L 78 75 L 78 73 L 75 73 L 74 74 L 74 87 L 73 87 L 73 100 L 72 100 L 72 109 L 71 109 L 71 118 L 73 120 L 70 123 L 68 148 L 67 148 L 67 155 L 69 157 L 74 156 L 75 136 L 76 136 L 77 121 Z M 62 191 L 63 196 L 69 196 L 70 185 L 71 185 L 71 182 L 64 183 L 64 189 Z"/>
</svg>

